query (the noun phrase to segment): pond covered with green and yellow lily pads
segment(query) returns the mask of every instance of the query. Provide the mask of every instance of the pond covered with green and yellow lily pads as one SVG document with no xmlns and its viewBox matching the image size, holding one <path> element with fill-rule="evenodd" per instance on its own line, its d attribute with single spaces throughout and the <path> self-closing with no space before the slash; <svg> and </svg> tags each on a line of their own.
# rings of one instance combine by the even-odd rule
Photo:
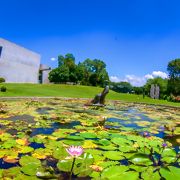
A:
<svg viewBox="0 0 180 180">
<path fill-rule="evenodd" d="M 86 101 L 1 102 L 0 178 L 180 179 L 179 108 Z"/>
</svg>

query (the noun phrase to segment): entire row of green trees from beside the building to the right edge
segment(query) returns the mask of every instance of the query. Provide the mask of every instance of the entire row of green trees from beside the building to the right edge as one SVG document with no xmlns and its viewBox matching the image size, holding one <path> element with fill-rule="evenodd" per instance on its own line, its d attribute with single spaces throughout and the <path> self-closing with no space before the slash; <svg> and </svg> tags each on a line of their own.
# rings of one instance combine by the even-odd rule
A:
<svg viewBox="0 0 180 180">
<path fill-rule="evenodd" d="M 168 78 L 156 77 L 148 79 L 142 87 L 134 87 L 129 82 L 110 82 L 106 64 L 99 59 L 86 59 L 75 63 L 73 54 L 58 56 L 58 67 L 49 73 L 49 80 L 53 83 L 71 82 L 81 85 L 104 87 L 109 84 L 110 89 L 120 93 L 134 93 L 149 96 L 152 84 L 160 88 L 160 98 L 173 100 L 180 96 L 180 59 L 172 60 L 167 65 Z"/>
</svg>

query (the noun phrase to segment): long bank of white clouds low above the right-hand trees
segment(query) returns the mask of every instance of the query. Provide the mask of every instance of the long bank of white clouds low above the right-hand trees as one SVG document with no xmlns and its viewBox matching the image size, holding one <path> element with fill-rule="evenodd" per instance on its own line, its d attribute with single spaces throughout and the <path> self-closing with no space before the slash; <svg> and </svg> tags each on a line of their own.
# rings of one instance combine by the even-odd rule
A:
<svg viewBox="0 0 180 180">
<path fill-rule="evenodd" d="M 154 79 L 155 77 L 167 78 L 168 75 L 162 71 L 153 71 L 151 74 L 146 74 L 142 77 L 135 75 L 126 75 L 124 78 L 118 76 L 110 76 L 112 82 L 129 82 L 133 86 L 143 86 L 148 79 Z"/>
</svg>

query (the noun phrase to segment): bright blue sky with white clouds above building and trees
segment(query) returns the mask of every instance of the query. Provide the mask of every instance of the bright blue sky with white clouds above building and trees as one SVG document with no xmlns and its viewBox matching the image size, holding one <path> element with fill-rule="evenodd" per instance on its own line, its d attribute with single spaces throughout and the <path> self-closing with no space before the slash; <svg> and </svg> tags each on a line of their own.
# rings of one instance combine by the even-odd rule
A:
<svg viewBox="0 0 180 180">
<path fill-rule="evenodd" d="M 76 61 L 105 61 L 111 79 L 142 85 L 166 77 L 180 57 L 178 0 L 0 0 L 0 37 L 57 65 L 59 54 Z"/>
</svg>

